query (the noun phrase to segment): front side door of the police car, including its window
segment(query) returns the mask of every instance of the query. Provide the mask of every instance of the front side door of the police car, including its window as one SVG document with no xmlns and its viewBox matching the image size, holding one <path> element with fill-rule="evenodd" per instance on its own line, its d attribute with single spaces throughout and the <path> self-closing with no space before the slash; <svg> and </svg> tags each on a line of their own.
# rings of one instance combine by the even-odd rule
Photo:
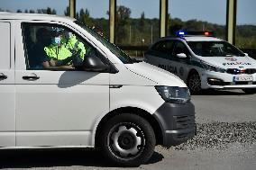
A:
<svg viewBox="0 0 256 170">
<path fill-rule="evenodd" d="M 190 52 L 182 41 L 175 40 L 171 58 L 173 67 L 175 67 L 176 70 L 175 74 L 186 83 L 190 66 Z"/>
</svg>

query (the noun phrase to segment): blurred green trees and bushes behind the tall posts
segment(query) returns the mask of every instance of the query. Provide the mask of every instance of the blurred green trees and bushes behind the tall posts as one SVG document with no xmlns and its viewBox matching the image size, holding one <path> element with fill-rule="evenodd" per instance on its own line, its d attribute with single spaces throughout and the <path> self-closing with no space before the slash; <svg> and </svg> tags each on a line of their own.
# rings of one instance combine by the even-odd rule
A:
<svg viewBox="0 0 256 170">
<path fill-rule="evenodd" d="M 0 11 L 5 11 L 0 8 Z M 24 11 L 17 10 L 16 13 L 48 13 L 56 14 L 55 9 L 47 7 L 46 9 Z M 106 11 L 108 14 L 108 11 Z M 160 38 L 160 20 L 159 18 L 147 18 L 142 12 L 140 18 L 131 18 L 132 10 L 126 6 L 120 5 L 116 8 L 115 25 L 115 43 L 120 46 L 149 46 L 155 40 Z M 64 14 L 69 16 L 69 7 Z M 100 28 L 106 38 L 109 37 L 109 20 L 105 18 L 93 18 L 89 10 L 80 9 L 76 13 L 76 18 L 80 22 L 86 23 L 89 27 L 96 26 Z M 225 39 L 225 25 L 211 22 L 195 20 L 182 21 L 179 18 L 168 16 L 168 35 L 171 36 L 173 30 L 182 29 L 184 31 L 215 31 L 215 36 Z M 256 25 L 237 25 L 236 26 L 235 45 L 239 48 L 256 48 Z"/>
</svg>

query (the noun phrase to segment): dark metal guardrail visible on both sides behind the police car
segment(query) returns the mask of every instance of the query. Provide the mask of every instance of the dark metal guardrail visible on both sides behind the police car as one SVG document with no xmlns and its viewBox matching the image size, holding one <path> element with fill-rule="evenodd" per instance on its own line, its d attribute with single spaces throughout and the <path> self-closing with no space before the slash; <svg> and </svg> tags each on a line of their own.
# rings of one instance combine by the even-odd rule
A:
<svg viewBox="0 0 256 170">
<path fill-rule="evenodd" d="M 142 51 L 142 52 L 145 52 L 149 49 L 149 46 L 120 46 L 118 45 L 118 47 L 120 49 L 123 49 L 123 50 L 131 50 L 131 51 Z M 250 48 L 242 48 L 241 49 L 243 52 L 245 53 L 248 53 L 248 55 L 251 57 L 251 58 L 255 58 L 256 59 L 256 49 L 250 49 Z"/>
</svg>

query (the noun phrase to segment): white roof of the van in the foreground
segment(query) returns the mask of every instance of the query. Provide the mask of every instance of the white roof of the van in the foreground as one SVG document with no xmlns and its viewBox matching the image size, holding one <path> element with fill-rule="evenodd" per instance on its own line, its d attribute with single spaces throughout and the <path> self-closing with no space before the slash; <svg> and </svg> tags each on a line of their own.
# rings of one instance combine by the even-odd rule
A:
<svg viewBox="0 0 256 170">
<path fill-rule="evenodd" d="M 54 14 L 42 13 L 9 13 L 0 12 L 0 20 L 41 20 L 41 21 L 66 21 L 74 22 L 76 19 L 68 16 L 58 16 Z"/>
</svg>

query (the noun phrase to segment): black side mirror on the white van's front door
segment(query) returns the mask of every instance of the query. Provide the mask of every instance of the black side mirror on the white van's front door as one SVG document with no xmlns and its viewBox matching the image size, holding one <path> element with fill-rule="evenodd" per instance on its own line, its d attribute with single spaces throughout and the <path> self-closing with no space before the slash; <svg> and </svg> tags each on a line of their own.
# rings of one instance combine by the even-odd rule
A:
<svg viewBox="0 0 256 170">
<path fill-rule="evenodd" d="M 82 65 L 82 69 L 85 71 L 105 72 L 108 71 L 109 68 L 110 67 L 105 65 L 96 55 L 86 55 Z"/>
</svg>

